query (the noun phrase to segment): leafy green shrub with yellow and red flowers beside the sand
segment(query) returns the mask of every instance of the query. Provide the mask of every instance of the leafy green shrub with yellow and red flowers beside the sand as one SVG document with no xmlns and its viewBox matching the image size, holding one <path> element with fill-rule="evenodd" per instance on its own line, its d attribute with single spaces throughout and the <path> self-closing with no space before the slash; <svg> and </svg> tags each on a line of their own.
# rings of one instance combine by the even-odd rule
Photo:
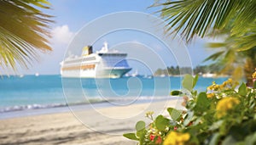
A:
<svg viewBox="0 0 256 145">
<path fill-rule="evenodd" d="M 135 133 L 124 137 L 136 140 L 140 145 L 163 144 L 256 144 L 256 83 L 247 87 L 244 83 L 212 82 L 205 92 L 193 88 L 198 77 L 185 75 L 184 91 L 171 95 L 183 97 L 184 110 L 168 108 L 168 116 L 146 117 L 152 122 L 137 122 Z"/>
</svg>

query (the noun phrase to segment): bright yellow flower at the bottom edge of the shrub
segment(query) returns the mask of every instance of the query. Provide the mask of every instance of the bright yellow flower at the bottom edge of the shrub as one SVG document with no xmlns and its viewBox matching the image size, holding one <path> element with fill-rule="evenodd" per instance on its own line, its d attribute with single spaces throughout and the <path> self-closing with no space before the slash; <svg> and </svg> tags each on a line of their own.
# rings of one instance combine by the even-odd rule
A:
<svg viewBox="0 0 256 145">
<path fill-rule="evenodd" d="M 185 142 L 188 142 L 190 138 L 189 133 L 179 133 L 179 132 L 175 132 L 175 131 L 171 131 L 163 145 L 184 145 Z"/>
</svg>

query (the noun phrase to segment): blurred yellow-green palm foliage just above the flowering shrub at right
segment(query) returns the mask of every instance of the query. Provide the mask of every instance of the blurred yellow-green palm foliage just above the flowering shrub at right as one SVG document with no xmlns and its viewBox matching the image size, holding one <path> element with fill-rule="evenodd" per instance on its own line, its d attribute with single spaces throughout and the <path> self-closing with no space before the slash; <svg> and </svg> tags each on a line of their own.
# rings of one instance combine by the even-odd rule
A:
<svg viewBox="0 0 256 145">
<path fill-rule="evenodd" d="M 217 53 L 213 53 L 205 61 L 213 61 L 213 65 L 220 67 L 219 74 L 229 74 L 234 80 L 242 77 L 247 78 L 247 82 L 251 82 L 251 75 L 256 67 L 256 47 L 246 51 L 237 51 L 234 46 L 235 37 L 227 37 L 223 43 L 211 43 L 207 47 L 219 47 Z M 232 45 L 231 45 L 232 44 Z"/>
</svg>

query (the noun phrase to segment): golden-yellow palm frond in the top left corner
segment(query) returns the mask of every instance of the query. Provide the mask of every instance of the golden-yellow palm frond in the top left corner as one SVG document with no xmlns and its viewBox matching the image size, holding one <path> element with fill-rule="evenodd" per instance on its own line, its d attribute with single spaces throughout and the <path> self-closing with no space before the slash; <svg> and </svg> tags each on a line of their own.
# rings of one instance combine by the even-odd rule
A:
<svg viewBox="0 0 256 145">
<path fill-rule="evenodd" d="M 49 8 L 45 0 L 0 1 L 0 65 L 15 70 L 19 64 L 27 67 L 33 59 L 38 59 L 38 51 L 47 52 L 49 46 L 49 23 L 52 16 L 43 14 L 32 4 Z"/>
</svg>

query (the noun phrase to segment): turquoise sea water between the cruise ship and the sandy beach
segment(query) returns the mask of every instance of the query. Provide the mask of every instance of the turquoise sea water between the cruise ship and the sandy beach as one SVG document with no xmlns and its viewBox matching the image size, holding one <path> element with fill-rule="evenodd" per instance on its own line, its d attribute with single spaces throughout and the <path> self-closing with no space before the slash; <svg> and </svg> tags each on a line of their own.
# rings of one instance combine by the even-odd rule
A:
<svg viewBox="0 0 256 145">
<path fill-rule="evenodd" d="M 227 78 L 199 78 L 195 89 L 205 91 L 212 81 Z M 73 104 L 137 103 L 170 98 L 181 89 L 182 77 L 123 77 L 119 79 L 67 79 L 61 75 L 2 76 L 0 113 L 22 109 L 55 108 Z"/>
</svg>

